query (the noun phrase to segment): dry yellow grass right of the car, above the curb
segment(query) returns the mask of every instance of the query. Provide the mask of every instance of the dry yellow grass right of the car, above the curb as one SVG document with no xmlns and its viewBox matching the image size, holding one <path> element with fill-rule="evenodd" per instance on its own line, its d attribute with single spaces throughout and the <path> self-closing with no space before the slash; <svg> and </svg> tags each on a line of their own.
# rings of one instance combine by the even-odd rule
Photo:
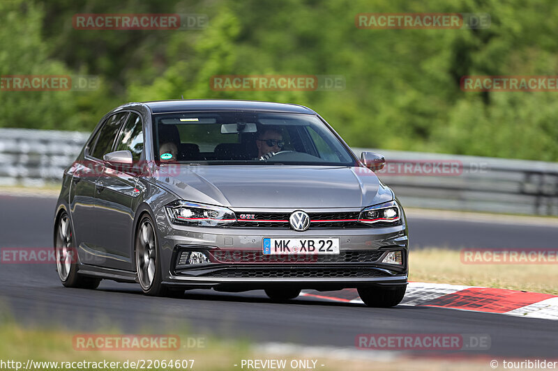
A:
<svg viewBox="0 0 558 371">
<path fill-rule="evenodd" d="M 558 295 L 557 265 L 463 264 L 460 251 L 425 248 L 409 253 L 409 281 L 499 287 Z"/>
</svg>

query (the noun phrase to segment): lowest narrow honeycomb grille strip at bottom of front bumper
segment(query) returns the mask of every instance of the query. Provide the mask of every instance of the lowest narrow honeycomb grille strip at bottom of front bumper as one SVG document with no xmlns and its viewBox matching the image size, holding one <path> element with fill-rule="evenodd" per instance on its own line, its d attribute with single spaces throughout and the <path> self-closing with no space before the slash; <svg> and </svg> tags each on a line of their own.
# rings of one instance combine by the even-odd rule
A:
<svg viewBox="0 0 558 371">
<path fill-rule="evenodd" d="M 373 278 L 389 276 L 375 269 L 317 269 L 317 268 L 271 268 L 241 269 L 228 268 L 210 272 L 203 276 L 215 278 Z"/>
</svg>

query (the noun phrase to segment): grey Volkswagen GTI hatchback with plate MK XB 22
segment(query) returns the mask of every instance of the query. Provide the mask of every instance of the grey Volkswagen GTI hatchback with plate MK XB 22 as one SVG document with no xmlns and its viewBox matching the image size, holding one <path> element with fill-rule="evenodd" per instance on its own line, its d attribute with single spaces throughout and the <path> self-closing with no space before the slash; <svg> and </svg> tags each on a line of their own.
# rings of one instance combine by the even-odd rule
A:
<svg viewBox="0 0 558 371">
<path fill-rule="evenodd" d="M 140 283 L 145 294 L 213 288 L 356 288 L 395 306 L 407 285 L 405 212 L 315 111 L 174 100 L 107 113 L 66 168 L 54 217 L 63 285 Z"/>
</svg>

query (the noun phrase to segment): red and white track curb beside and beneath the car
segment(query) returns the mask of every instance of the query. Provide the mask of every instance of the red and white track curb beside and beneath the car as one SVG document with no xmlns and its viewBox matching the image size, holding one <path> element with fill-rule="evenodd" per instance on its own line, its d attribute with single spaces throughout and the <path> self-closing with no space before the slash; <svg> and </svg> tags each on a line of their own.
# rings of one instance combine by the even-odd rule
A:
<svg viewBox="0 0 558 371">
<path fill-rule="evenodd" d="M 362 303 L 354 289 L 316 292 L 305 290 L 303 297 L 345 303 Z M 402 306 L 432 306 L 500 313 L 527 318 L 558 319 L 558 297 L 551 294 L 495 289 L 490 287 L 412 282 L 407 285 Z"/>
</svg>

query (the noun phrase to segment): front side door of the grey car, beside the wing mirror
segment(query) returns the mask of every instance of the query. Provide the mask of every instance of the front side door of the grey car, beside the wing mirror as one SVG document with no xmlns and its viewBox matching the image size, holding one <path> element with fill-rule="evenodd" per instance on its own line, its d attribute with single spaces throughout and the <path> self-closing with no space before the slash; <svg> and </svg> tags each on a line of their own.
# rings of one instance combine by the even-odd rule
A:
<svg viewBox="0 0 558 371">
<path fill-rule="evenodd" d="M 105 253 L 105 266 L 133 270 L 133 210 L 137 173 L 144 160 L 142 118 L 130 112 L 113 150 L 129 150 L 135 166 L 112 166 L 105 162 L 95 192 L 96 244 Z"/>
</svg>

